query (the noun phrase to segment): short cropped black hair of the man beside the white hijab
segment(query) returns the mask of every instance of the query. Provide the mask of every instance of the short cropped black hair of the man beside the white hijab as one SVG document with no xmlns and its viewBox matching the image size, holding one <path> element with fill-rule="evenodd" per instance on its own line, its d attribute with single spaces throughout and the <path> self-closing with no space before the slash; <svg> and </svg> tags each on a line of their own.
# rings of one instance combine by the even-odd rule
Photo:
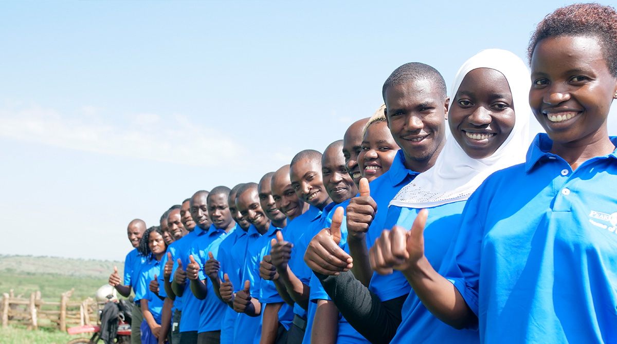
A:
<svg viewBox="0 0 617 344">
<path fill-rule="evenodd" d="M 439 95 L 444 99 L 447 97 L 444 77 L 435 68 L 420 62 L 410 62 L 396 68 L 386 79 L 381 96 L 386 101 L 386 90 L 391 86 L 399 86 L 411 83 L 412 81 L 429 80 L 433 86 L 439 88 Z"/>
</svg>

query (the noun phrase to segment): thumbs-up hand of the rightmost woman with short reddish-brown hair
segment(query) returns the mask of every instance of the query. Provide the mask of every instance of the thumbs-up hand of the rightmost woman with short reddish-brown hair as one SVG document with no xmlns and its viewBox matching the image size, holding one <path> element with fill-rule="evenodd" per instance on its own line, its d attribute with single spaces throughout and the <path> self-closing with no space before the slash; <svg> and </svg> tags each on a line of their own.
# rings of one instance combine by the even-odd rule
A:
<svg viewBox="0 0 617 344">
<path fill-rule="evenodd" d="M 369 251 L 371 268 L 379 274 L 387 275 L 392 270 L 407 270 L 423 258 L 427 217 L 428 210 L 423 209 L 418 212 L 410 231 L 394 226 L 391 231 L 381 232 Z"/>
</svg>

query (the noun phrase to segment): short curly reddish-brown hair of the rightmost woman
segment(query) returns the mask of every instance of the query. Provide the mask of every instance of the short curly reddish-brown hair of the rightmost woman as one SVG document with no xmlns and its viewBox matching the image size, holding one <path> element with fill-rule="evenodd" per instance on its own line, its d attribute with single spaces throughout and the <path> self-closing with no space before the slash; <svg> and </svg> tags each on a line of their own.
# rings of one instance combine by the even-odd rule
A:
<svg viewBox="0 0 617 344">
<path fill-rule="evenodd" d="M 551 36 L 590 36 L 598 39 L 611 75 L 617 76 L 617 12 L 600 4 L 572 4 L 544 17 L 531 35 L 527 55 L 542 39 Z"/>
</svg>

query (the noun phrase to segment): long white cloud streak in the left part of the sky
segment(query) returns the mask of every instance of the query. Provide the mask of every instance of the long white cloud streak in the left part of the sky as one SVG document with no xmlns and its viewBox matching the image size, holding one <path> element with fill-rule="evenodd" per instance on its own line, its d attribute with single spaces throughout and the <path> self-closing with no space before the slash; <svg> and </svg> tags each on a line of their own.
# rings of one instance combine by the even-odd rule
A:
<svg viewBox="0 0 617 344">
<path fill-rule="evenodd" d="M 81 107 L 67 115 L 38 105 L 4 104 L 0 136 L 69 149 L 191 166 L 228 165 L 244 151 L 231 136 L 184 115 L 126 115 L 118 125 L 104 109 Z M 198 152 L 198 153 L 197 153 Z"/>
</svg>

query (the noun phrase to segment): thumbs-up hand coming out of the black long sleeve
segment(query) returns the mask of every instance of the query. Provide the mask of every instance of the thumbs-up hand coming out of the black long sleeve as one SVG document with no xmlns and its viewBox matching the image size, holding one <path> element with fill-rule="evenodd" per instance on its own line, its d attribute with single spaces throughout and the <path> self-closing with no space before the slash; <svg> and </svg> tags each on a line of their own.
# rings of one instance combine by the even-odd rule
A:
<svg viewBox="0 0 617 344">
<path fill-rule="evenodd" d="M 351 256 L 338 245 L 341 242 L 343 214 L 342 207 L 336 208 L 330 227 L 322 229 L 309 242 L 304 261 L 313 271 L 324 275 L 337 275 L 352 267 Z"/>
</svg>

